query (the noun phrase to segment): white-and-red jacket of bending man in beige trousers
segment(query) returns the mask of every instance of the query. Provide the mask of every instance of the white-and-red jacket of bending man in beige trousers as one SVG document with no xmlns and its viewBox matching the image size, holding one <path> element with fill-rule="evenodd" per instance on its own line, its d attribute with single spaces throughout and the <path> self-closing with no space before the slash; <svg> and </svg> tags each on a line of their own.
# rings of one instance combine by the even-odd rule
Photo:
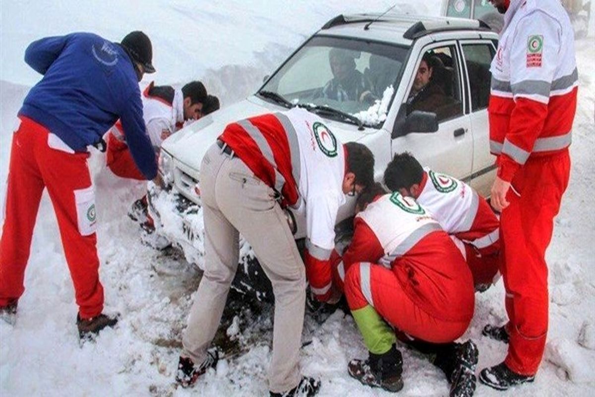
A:
<svg viewBox="0 0 595 397">
<path fill-rule="evenodd" d="M 219 137 L 256 177 L 281 195 L 281 205 L 306 216 L 306 274 L 312 292 L 330 296 L 330 256 L 346 154 L 323 120 L 303 109 L 229 124 Z"/>
</svg>

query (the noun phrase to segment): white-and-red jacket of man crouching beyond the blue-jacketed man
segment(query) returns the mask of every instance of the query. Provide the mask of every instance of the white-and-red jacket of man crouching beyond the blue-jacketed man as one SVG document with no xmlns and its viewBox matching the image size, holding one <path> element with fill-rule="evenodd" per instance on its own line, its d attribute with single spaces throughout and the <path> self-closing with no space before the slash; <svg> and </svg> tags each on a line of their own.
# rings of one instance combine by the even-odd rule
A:
<svg viewBox="0 0 595 397">
<path fill-rule="evenodd" d="M 158 152 L 165 138 L 184 124 L 184 96 L 180 89 L 169 86 L 155 87 L 154 82 L 151 82 L 143 91 L 141 99 L 147 134 L 153 148 Z M 111 133 L 118 140 L 125 140 L 119 120 L 112 127 Z"/>
</svg>

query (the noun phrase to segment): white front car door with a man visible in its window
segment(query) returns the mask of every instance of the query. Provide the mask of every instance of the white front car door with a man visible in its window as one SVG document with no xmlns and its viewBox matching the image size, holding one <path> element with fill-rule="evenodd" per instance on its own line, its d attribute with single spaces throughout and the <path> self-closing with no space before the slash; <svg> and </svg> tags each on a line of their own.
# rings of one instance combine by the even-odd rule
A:
<svg viewBox="0 0 595 397">
<path fill-rule="evenodd" d="M 392 140 L 393 155 L 403 151 L 411 152 L 418 161 L 433 170 L 464 179 L 471 174 L 473 160 L 473 138 L 469 133 L 471 123 L 466 114 L 466 87 L 462 74 L 461 54 L 455 40 L 437 42 L 422 48 L 413 75 L 409 76 L 408 89 L 400 104 L 402 109 L 408 107 L 412 88 L 418 68 L 424 54 L 431 54 L 433 66 L 432 83 L 443 86 L 445 95 L 458 102 L 458 109 L 439 120 L 438 130 L 433 133 L 415 132 L 415 126 L 406 135 Z M 403 82 L 406 82 L 403 77 Z"/>
</svg>

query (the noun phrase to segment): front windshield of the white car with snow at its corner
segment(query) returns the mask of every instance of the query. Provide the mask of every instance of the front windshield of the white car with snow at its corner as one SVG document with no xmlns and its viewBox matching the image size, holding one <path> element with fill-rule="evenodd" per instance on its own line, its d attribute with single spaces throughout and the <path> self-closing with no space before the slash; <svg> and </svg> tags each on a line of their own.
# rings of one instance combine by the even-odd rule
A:
<svg viewBox="0 0 595 397">
<path fill-rule="evenodd" d="M 388 43 L 315 36 L 258 94 L 287 107 L 298 105 L 323 111 L 325 117 L 379 126 L 408 52 L 408 47 Z"/>
</svg>

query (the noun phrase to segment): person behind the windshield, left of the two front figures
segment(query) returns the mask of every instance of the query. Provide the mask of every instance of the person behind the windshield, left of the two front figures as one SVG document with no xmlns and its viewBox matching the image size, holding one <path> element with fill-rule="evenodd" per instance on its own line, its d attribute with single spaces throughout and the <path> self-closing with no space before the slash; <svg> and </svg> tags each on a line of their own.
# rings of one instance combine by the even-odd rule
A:
<svg viewBox="0 0 595 397">
<path fill-rule="evenodd" d="M 334 101 L 358 101 L 374 103 L 368 80 L 355 68 L 356 53 L 342 48 L 333 48 L 328 53 L 328 62 L 333 79 L 322 88 L 322 97 Z"/>
</svg>

